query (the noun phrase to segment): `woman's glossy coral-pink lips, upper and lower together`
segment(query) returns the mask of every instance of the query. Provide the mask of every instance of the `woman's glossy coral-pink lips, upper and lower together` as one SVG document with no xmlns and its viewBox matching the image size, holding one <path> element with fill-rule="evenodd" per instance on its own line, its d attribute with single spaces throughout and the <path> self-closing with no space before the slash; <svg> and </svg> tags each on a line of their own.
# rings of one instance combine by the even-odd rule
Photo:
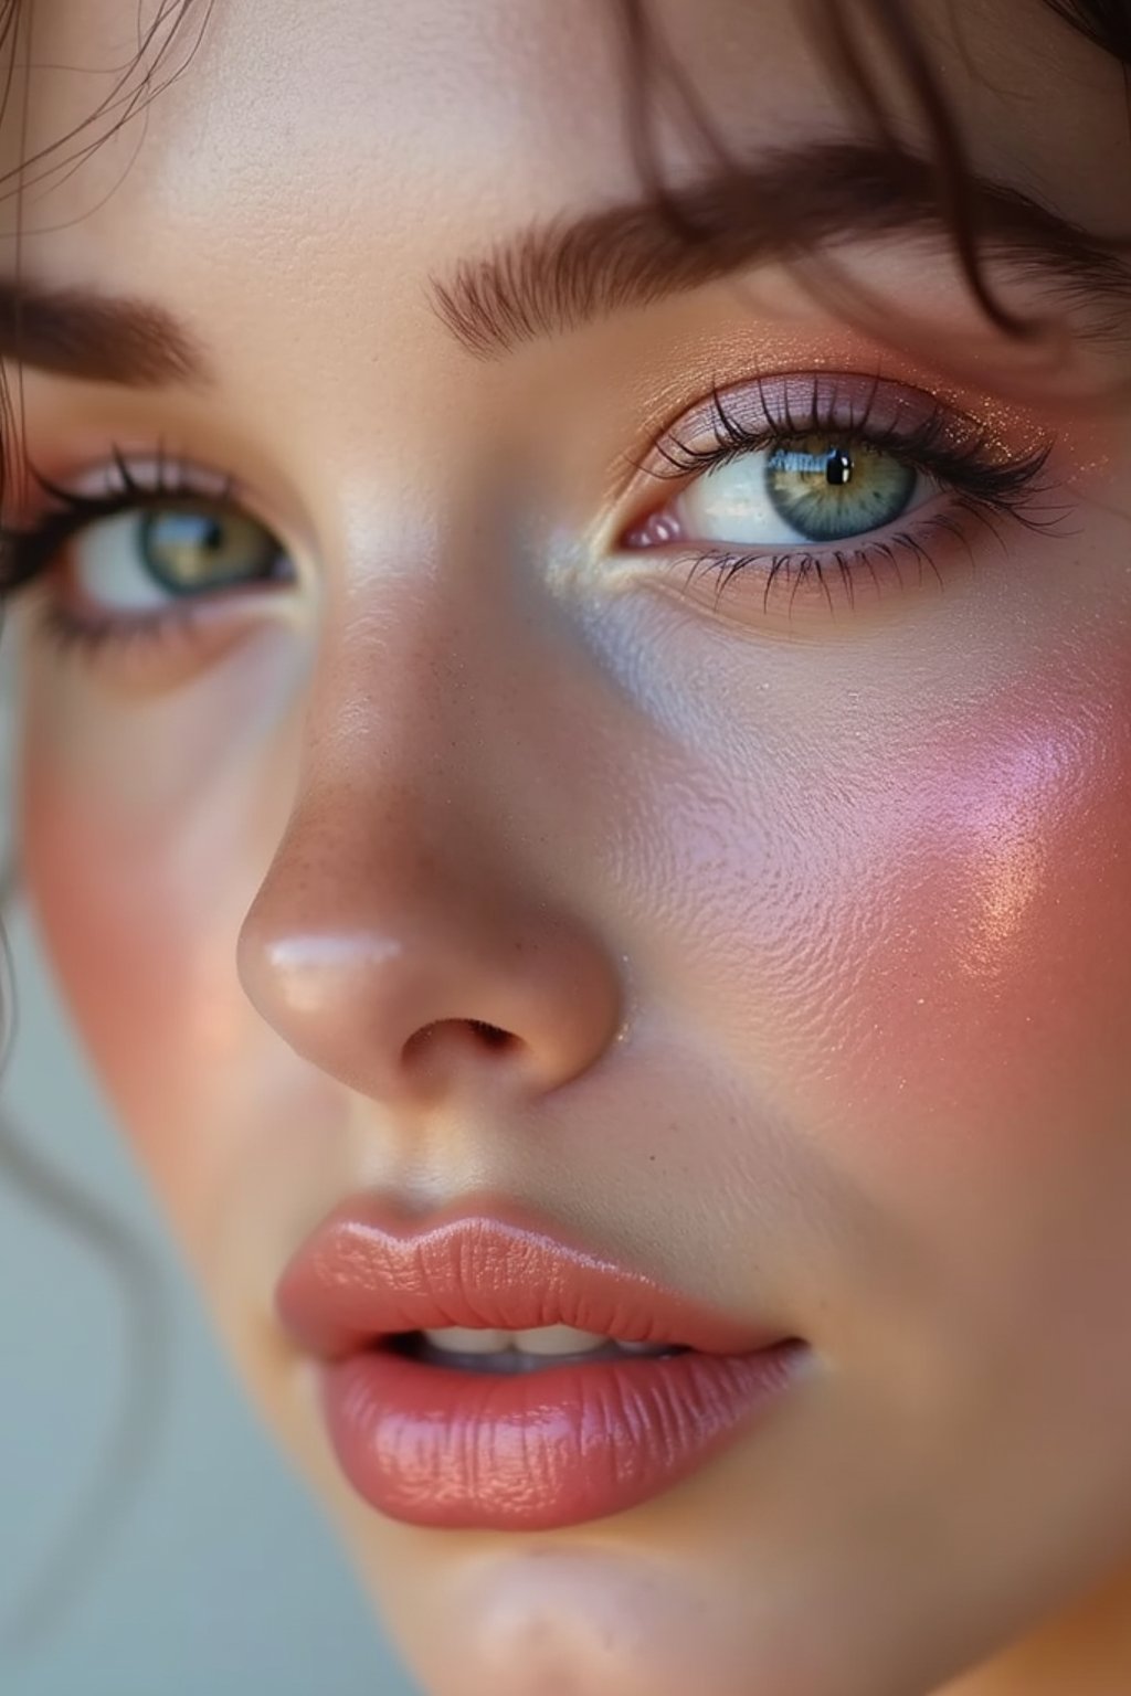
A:
<svg viewBox="0 0 1131 1696">
<path fill-rule="evenodd" d="M 348 1204 L 280 1279 L 278 1313 L 320 1362 L 339 1464 L 415 1525 L 553 1530 L 626 1511 L 738 1438 L 804 1343 L 719 1314 L 517 1213 L 405 1228 Z M 405 1352 L 448 1326 L 568 1325 L 673 1353 L 500 1375 Z"/>
</svg>

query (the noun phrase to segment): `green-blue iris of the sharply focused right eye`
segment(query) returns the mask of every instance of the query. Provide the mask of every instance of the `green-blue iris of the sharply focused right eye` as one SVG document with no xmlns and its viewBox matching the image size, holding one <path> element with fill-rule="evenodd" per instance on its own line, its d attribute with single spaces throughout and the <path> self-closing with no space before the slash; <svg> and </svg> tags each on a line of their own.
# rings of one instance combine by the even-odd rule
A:
<svg viewBox="0 0 1131 1696">
<path fill-rule="evenodd" d="M 839 541 L 882 529 L 907 510 L 917 473 L 855 443 L 802 436 L 766 461 L 766 494 L 778 517 L 807 541 Z"/>
</svg>

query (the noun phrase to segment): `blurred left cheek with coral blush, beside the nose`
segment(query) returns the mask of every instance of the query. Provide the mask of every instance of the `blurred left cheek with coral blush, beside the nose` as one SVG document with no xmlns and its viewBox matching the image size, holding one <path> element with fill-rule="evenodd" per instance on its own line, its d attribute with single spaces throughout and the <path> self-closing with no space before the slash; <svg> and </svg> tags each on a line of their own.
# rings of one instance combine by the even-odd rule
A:
<svg viewBox="0 0 1131 1696">
<path fill-rule="evenodd" d="M 227 689 L 112 709 L 46 665 L 25 702 L 24 880 L 95 1070 L 188 1233 L 219 1219 L 271 1094 L 270 1033 L 236 975 L 293 780 L 278 722 L 263 751 L 265 683 L 253 655 Z"/>
</svg>

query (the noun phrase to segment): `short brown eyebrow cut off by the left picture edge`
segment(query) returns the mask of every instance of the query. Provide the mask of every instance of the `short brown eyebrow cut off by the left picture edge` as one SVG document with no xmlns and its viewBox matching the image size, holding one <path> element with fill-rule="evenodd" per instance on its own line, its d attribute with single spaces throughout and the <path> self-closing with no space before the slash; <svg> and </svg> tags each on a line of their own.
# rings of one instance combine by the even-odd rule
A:
<svg viewBox="0 0 1131 1696">
<path fill-rule="evenodd" d="M 203 351 L 164 307 L 10 278 L 0 280 L 0 358 L 90 383 L 207 382 Z"/>
</svg>

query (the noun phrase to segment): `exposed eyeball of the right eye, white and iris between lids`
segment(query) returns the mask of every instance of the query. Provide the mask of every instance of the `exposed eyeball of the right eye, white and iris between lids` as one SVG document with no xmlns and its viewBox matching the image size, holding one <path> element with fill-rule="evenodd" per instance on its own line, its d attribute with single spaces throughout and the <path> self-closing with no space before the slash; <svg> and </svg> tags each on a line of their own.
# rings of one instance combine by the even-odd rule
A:
<svg viewBox="0 0 1131 1696">
<path fill-rule="evenodd" d="M 666 514 L 690 541 L 778 548 L 880 531 L 933 494 L 933 483 L 890 451 L 812 434 L 727 458 Z"/>
</svg>

